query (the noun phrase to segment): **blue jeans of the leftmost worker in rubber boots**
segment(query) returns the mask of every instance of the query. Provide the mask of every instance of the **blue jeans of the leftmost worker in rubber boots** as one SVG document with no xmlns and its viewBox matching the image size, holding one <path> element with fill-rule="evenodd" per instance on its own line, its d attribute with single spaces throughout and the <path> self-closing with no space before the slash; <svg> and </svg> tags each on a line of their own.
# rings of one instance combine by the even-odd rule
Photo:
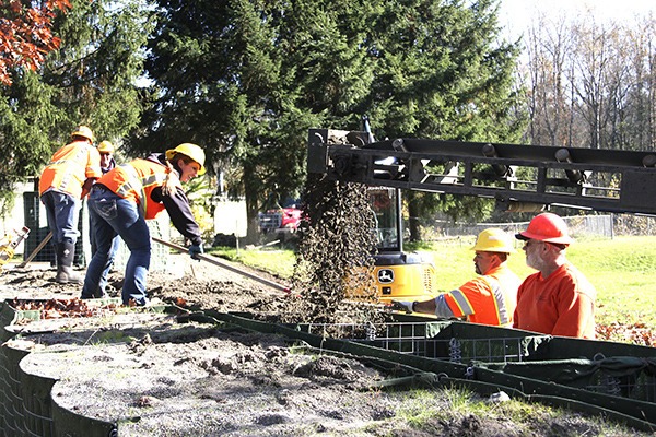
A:
<svg viewBox="0 0 656 437">
<path fill-rule="evenodd" d="M 46 206 L 48 227 L 52 232 L 52 243 L 74 245 L 80 235 L 78 232 L 80 199 L 52 190 L 44 192 L 40 199 Z"/>
</svg>

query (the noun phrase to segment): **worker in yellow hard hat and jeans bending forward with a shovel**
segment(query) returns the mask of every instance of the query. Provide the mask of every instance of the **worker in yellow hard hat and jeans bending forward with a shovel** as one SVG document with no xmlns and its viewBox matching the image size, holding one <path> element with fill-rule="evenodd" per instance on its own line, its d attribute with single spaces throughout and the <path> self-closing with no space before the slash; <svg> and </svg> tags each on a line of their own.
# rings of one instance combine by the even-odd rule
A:
<svg viewBox="0 0 656 437">
<path fill-rule="evenodd" d="M 113 241 L 120 236 L 130 250 L 121 292 L 124 305 L 148 304 L 147 274 L 151 259 L 150 231 L 145 223 L 166 210 L 173 225 L 191 241 L 189 255 L 202 253 L 201 232 L 180 182 L 206 173 L 204 152 L 183 143 L 166 153 L 133 160 L 105 174 L 91 189 L 96 251 L 86 269 L 82 298 L 104 297 L 114 261 Z"/>
</svg>

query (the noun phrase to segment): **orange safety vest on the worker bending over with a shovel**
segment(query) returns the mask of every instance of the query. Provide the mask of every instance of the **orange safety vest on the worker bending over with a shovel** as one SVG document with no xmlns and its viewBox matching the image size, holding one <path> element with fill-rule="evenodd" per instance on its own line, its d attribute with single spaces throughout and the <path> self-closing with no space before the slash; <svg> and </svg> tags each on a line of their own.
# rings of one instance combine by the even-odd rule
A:
<svg viewBox="0 0 656 437">
<path fill-rule="evenodd" d="M 171 184 L 176 187 L 180 186 L 179 179 L 174 173 L 171 173 L 167 166 L 154 161 L 137 158 L 106 173 L 97 184 L 102 184 L 121 198 L 137 203 L 143 212 L 143 216 L 150 220 L 164 211 L 164 204 L 152 200 L 151 193 L 153 189 L 162 187 L 167 176 L 169 186 Z"/>
</svg>

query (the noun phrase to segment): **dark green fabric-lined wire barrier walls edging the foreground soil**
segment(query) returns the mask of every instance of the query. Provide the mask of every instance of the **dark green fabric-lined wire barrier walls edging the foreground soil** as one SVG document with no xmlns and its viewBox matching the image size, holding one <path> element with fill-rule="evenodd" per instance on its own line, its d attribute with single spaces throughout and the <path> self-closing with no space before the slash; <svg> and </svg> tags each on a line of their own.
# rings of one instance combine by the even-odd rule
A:
<svg viewBox="0 0 656 437">
<path fill-rule="evenodd" d="M 14 324 L 38 319 L 0 304 L 0 435 L 116 436 L 116 423 L 75 414 L 51 395 L 56 379 L 31 375 L 21 367 L 30 354 L 20 347 Z M 394 316 L 380 324 L 276 324 L 245 314 L 212 310 L 185 312 L 177 321 L 238 327 L 301 340 L 325 353 L 407 368 L 406 376 L 384 380 L 394 387 L 459 387 L 490 395 L 508 395 L 567 408 L 656 430 L 656 350 L 623 343 L 552 338 L 532 332 L 462 322 L 426 321 Z M 181 311 L 181 312 L 180 312 Z M 32 332 L 35 334 L 36 332 Z M 30 332 L 21 333 L 28 339 Z M 8 340 L 13 342 L 5 343 Z M 9 345 L 14 343 L 14 345 Z"/>
</svg>

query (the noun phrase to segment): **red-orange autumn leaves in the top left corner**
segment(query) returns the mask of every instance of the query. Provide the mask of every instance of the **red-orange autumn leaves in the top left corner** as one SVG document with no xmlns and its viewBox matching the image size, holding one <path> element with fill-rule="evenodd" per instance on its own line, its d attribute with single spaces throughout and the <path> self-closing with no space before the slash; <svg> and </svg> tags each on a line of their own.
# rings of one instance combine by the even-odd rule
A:
<svg viewBox="0 0 656 437">
<path fill-rule="evenodd" d="M 36 70 L 46 54 L 59 48 L 52 19 L 70 8 L 69 0 L 0 0 L 0 83 L 12 83 L 14 68 Z"/>
</svg>

